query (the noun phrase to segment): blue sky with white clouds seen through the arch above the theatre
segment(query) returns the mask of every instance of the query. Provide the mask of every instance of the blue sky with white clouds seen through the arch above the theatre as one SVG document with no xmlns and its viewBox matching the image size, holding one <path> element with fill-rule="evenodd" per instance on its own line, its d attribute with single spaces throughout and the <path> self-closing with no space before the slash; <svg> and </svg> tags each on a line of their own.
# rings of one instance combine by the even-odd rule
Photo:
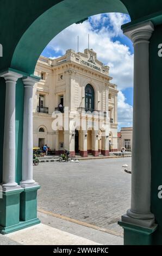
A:
<svg viewBox="0 0 162 256">
<path fill-rule="evenodd" d="M 118 130 L 132 126 L 133 115 L 133 45 L 123 35 L 121 25 L 128 23 L 127 14 L 108 13 L 89 17 L 83 23 L 73 24 L 61 31 L 43 50 L 48 58 L 63 56 L 67 49 L 84 52 L 90 48 L 97 53 L 97 59 L 110 67 L 112 83 L 117 84 L 118 93 Z"/>
</svg>

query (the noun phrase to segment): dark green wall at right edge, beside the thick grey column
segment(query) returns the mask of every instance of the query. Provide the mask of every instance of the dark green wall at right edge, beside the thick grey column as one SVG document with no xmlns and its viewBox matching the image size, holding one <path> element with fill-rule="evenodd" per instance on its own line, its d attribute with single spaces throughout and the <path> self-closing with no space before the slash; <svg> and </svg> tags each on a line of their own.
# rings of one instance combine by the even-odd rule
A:
<svg viewBox="0 0 162 256">
<path fill-rule="evenodd" d="M 162 25 L 156 26 L 150 41 L 150 103 L 151 103 L 151 211 L 155 214 L 158 230 L 154 242 L 162 244 L 162 199 L 158 198 L 158 186 L 162 185 L 162 57 L 158 45 L 162 44 Z"/>
</svg>

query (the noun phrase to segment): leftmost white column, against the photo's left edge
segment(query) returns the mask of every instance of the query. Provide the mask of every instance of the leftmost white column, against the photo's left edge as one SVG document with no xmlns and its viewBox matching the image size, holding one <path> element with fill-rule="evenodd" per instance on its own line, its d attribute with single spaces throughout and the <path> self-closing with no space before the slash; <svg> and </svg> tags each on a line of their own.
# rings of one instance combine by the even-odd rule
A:
<svg viewBox="0 0 162 256">
<path fill-rule="evenodd" d="M 22 75 L 5 71 L 0 76 L 4 77 L 6 83 L 2 187 L 7 191 L 20 188 L 15 182 L 15 96 L 16 82 Z"/>
</svg>

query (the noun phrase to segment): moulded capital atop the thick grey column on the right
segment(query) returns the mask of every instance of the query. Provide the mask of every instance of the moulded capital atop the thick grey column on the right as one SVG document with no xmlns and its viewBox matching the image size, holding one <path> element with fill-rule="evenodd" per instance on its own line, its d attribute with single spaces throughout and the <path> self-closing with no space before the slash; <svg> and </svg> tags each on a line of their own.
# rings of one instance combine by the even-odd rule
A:
<svg viewBox="0 0 162 256">
<path fill-rule="evenodd" d="M 123 28 L 123 34 L 130 38 L 134 45 L 140 42 L 149 42 L 153 31 L 154 25 L 151 21 Z"/>
</svg>

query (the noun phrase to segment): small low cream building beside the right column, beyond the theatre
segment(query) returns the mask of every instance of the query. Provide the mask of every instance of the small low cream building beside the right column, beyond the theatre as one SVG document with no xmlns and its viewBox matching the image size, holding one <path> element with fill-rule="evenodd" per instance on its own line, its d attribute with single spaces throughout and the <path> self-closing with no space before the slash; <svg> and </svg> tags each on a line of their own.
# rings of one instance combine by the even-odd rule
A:
<svg viewBox="0 0 162 256">
<path fill-rule="evenodd" d="M 120 132 L 117 132 L 117 148 L 126 148 L 126 151 L 132 151 L 132 133 L 133 127 L 123 127 Z"/>
</svg>

